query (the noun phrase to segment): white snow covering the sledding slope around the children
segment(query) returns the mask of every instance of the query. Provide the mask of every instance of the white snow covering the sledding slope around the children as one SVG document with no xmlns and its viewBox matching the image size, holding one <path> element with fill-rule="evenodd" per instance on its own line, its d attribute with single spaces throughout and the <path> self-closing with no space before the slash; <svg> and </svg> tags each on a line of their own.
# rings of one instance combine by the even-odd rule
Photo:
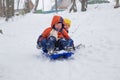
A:
<svg viewBox="0 0 120 80">
<path fill-rule="evenodd" d="M 0 21 L 0 80 L 120 80 L 120 8 L 89 5 L 69 14 L 70 36 L 85 48 L 68 60 L 50 61 L 36 49 L 36 40 L 50 26 L 52 14 L 28 14 Z"/>
</svg>

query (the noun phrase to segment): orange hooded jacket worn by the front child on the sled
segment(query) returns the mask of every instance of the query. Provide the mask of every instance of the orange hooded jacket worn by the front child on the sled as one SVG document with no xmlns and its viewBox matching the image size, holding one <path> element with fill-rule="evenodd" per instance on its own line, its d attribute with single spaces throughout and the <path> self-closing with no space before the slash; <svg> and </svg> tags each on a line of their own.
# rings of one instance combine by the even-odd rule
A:
<svg viewBox="0 0 120 80">
<path fill-rule="evenodd" d="M 53 17 L 53 20 L 52 20 L 52 23 L 51 23 L 51 27 L 45 29 L 42 33 L 42 39 L 43 38 L 48 38 L 49 35 L 50 35 L 50 32 L 52 31 L 53 29 L 53 26 L 55 24 L 57 24 L 58 22 L 62 22 L 62 17 L 60 16 L 54 16 Z M 65 38 L 65 39 L 70 39 L 68 33 L 66 32 L 66 30 L 63 28 L 61 32 L 58 32 L 58 38 Z M 39 41 L 41 41 L 41 39 L 39 39 Z"/>
</svg>

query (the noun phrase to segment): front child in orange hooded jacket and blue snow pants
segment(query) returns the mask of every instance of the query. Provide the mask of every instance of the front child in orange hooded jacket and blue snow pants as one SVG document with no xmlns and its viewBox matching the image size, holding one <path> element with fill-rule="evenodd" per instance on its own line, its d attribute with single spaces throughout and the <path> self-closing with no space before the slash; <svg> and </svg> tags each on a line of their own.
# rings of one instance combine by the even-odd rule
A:
<svg viewBox="0 0 120 80">
<path fill-rule="evenodd" d="M 43 31 L 37 40 L 37 45 L 45 53 L 53 53 L 56 48 L 66 50 L 68 47 L 73 46 L 73 40 L 64 29 L 63 18 L 61 16 L 53 17 L 51 27 Z"/>
</svg>

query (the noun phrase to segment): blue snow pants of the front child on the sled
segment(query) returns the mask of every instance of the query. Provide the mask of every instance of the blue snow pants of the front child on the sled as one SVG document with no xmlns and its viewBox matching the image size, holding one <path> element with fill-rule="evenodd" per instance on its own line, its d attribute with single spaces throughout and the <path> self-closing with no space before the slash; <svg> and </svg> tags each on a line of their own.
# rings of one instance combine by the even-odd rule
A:
<svg viewBox="0 0 120 80">
<path fill-rule="evenodd" d="M 64 50 L 67 47 L 72 47 L 73 40 L 66 40 L 64 38 L 61 38 L 57 41 L 54 36 L 50 36 L 48 39 L 44 38 L 41 41 L 37 41 L 37 44 L 39 47 L 42 47 L 42 50 L 45 53 L 47 53 L 48 50 L 55 49 L 56 47 L 59 48 L 59 50 Z"/>
</svg>

